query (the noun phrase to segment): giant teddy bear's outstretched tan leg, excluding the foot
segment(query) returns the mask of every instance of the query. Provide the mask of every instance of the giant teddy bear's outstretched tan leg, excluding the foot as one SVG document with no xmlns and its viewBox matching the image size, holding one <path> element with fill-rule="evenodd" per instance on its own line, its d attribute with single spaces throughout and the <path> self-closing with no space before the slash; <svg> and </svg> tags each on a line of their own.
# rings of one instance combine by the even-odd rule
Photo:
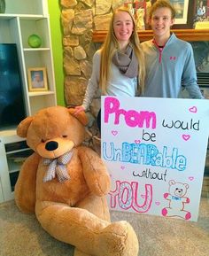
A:
<svg viewBox="0 0 209 256">
<path fill-rule="evenodd" d="M 50 236 L 94 256 L 100 231 L 110 224 L 85 209 L 50 201 L 37 200 L 35 215 Z"/>
</svg>

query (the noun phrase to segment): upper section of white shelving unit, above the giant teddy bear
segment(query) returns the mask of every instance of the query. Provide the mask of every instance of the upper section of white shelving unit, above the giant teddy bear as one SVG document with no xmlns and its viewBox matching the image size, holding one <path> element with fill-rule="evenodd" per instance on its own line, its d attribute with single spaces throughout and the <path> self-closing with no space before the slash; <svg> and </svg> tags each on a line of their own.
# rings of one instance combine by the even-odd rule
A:
<svg viewBox="0 0 209 256">
<path fill-rule="evenodd" d="M 27 115 L 51 105 L 57 105 L 53 58 L 50 42 L 50 20 L 47 0 L 6 0 L 6 10 L 0 14 L 0 43 L 16 43 L 23 83 Z M 40 48 L 30 48 L 29 35 L 42 38 Z M 28 91 L 27 69 L 46 67 L 48 90 Z"/>
</svg>

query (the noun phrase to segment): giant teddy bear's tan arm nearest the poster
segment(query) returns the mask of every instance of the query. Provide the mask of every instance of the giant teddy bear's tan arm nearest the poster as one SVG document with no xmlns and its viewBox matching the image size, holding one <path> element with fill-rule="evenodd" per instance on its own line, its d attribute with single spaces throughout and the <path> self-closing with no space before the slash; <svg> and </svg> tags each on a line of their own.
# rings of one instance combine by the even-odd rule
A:
<svg viewBox="0 0 209 256">
<path fill-rule="evenodd" d="M 81 147 L 79 157 L 83 167 L 83 175 L 89 190 L 101 197 L 110 191 L 110 175 L 102 159 L 90 148 Z"/>
</svg>

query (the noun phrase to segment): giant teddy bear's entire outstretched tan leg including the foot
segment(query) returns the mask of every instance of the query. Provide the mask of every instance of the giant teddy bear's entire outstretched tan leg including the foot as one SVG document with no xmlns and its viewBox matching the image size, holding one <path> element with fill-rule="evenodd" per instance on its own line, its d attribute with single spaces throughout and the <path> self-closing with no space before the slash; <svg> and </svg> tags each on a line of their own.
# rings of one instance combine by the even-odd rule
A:
<svg viewBox="0 0 209 256">
<path fill-rule="evenodd" d="M 127 221 L 110 223 L 85 209 L 36 201 L 35 213 L 52 237 L 94 256 L 137 256 L 138 240 Z"/>
</svg>

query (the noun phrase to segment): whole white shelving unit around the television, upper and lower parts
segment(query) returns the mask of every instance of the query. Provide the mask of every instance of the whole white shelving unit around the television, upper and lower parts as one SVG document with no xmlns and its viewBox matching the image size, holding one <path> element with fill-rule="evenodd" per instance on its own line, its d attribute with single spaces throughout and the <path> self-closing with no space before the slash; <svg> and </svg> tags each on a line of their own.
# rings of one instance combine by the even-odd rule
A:
<svg viewBox="0 0 209 256">
<path fill-rule="evenodd" d="M 20 76 L 27 116 L 57 105 L 54 66 L 50 41 L 50 20 L 47 0 L 5 0 L 5 13 L 0 14 L 0 43 L 16 43 Z M 40 48 L 30 48 L 29 35 L 42 38 Z M 27 69 L 45 67 L 48 90 L 28 90 Z M 16 135 L 16 127 L 0 131 L 0 203 L 13 198 L 13 187 L 21 160 L 31 153 L 24 139 Z"/>
</svg>

